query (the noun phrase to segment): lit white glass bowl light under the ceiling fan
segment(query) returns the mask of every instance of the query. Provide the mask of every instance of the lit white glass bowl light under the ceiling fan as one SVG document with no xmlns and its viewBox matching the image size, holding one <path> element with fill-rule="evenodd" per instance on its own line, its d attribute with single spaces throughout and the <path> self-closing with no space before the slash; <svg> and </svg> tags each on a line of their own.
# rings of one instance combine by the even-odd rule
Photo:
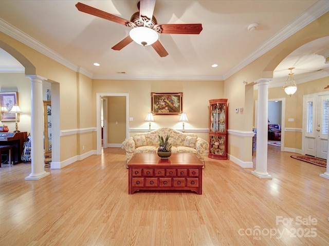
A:
<svg viewBox="0 0 329 246">
<path fill-rule="evenodd" d="M 135 27 L 130 30 L 129 35 L 135 43 L 142 46 L 152 45 L 159 38 L 159 34 L 148 27 Z"/>
</svg>

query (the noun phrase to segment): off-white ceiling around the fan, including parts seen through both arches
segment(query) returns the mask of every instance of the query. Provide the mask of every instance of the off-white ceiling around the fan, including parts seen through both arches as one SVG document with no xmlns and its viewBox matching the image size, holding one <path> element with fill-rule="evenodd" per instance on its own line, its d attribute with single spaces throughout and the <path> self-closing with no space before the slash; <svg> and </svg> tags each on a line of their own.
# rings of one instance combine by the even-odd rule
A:
<svg viewBox="0 0 329 246">
<path fill-rule="evenodd" d="M 160 57 L 151 46 L 135 43 L 112 50 L 130 28 L 80 12 L 77 2 L 2 0 L 0 31 L 92 78 L 222 80 L 329 10 L 327 0 L 157 0 L 158 24 L 203 26 L 199 35 L 161 34 L 169 55 Z M 80 2 L 130 19 L 138 0 Z M 259 27 L 249 32 L 251 23 Z M 329 38 L 301 47 L 282 61 L 275 78 L 285 80 L 289 67 L 296 67 L 296 80 L 319 69 L 328 76 L 329 65 L 316 54 L 328 48 Z M 217 68 L 211 67 L 214 63 Z M 3 66 L 14 69 L 20 64 L 0 49 L 0 70 Z"/>
</svg>

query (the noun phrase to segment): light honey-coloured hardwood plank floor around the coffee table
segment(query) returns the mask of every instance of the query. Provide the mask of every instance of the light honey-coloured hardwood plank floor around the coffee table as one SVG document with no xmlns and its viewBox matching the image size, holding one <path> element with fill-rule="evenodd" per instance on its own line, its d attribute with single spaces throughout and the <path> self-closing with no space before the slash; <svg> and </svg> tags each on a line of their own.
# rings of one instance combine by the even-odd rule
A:
<svg viewBox="0 0 329 246">
<path fill-rule="evenodd" d="M 328 245 L 325 168 L 291 154 L 268 146 L 272 179 L 206 157 L 202 195 L 129 195 L 118 148 L 37 181 L 29 164 L 3 167 L 0 245 Z"/>
</svg>

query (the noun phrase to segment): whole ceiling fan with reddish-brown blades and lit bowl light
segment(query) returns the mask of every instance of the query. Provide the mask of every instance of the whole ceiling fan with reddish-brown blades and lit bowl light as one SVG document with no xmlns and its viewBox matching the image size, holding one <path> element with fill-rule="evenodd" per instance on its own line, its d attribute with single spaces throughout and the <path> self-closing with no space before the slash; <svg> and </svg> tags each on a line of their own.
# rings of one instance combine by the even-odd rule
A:
<svg viewBox="0 0 329 246">
<path fill-rule="evenodd" d="M 165 57 L 168 55 L 168 52 L 158 40 L 159 34 L 199 34 L 202 31 L 201 24 L 157 24 L 157 20 L 153 16 L 155 0 L 140 0 L 137 4 L 139 11 L 134 13 L 130 20 L 82 3 L 77 3 L 76 7 L 81 12 L 132 28 L 129 36 L 113 46 L 113 50 L 121 50 L 135 41 L 139 45 L 151 45 L 161 57 Z"/>
</svg>

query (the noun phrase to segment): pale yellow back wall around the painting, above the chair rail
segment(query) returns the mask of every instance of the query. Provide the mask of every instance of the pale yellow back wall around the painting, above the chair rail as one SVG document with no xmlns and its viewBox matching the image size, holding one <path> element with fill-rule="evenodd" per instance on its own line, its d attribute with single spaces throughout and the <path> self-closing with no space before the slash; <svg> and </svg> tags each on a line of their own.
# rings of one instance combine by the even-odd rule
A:
<svg viewBox="0 0 329 246">
<path fill-rule="evenodd" d="M 182 81 L 182 80 L 93 80 L 93 108 L 96 109 L 96 93 L 129 93 L 130 128 L 149 128 L 144 121 L 151 112 L 151 92 L 182 92 L 182 107 L 189 122 L 185 129 L 209 128 L 209 100 L 223 98 L 223 81 Z M 154 115 L 152 129 L 169 127 L 182 129 L 179 115 Z M 96 125 L 96 111 L 93 116 Z M 208 139 L 208 133 L 197 133 Z"/>
</svg>

